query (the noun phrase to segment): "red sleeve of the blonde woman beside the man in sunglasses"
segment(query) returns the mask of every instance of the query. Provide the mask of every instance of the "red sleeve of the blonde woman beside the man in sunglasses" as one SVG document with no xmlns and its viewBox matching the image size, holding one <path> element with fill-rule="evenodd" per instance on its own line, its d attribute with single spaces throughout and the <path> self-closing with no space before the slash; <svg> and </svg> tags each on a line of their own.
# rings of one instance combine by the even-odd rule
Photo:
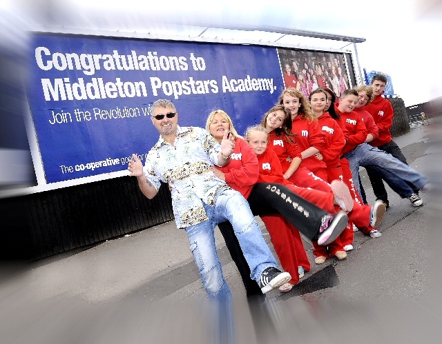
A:
<svg viewBox="0 0 442 344">
<path fill-rule="evenodd" d="M 226 182 L 228 184 L 235 183 L 240 187 L 254 185 L 259 176 L 256 154 L 243 139 L 236 139 L 235 144 L 240 145 L 242 166 L 226 172 L 224 174 Z"/>
</svg>

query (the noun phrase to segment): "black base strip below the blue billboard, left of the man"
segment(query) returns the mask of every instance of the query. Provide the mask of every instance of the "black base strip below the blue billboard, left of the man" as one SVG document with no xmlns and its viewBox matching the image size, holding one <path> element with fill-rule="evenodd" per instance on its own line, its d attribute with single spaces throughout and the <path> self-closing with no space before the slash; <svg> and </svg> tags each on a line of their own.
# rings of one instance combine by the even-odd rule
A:
<svg viewBox="0 0 442 344">
<path fill-rule="evenodd" d="M 154 199 L 125 176 L 0 200 L 0 261 L 35 261 L 173 220 L 171 192 Z"/>
</svg>

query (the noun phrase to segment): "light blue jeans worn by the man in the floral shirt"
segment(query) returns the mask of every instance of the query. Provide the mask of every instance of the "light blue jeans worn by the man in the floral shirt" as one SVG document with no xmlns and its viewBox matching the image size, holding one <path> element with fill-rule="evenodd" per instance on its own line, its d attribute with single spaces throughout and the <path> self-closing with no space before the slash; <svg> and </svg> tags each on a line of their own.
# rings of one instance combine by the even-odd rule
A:
<svg viewBox="0 0 442 344">
<path fill-rule="evenodd" d="M 262 272 L 278 264 L 242 194 L 231 189 L 224 190 L 217 194 L 213 206 L 204 204 L 204 209 L 209 220 L 186 227 L 193 259 L 209 298 L 230 299 L 231 292 L 222 274 L 215 247 L 214 230 L 218 223 L 229 221 L 233 225 L 252 279 L 260 283 Z"/>
</svg>

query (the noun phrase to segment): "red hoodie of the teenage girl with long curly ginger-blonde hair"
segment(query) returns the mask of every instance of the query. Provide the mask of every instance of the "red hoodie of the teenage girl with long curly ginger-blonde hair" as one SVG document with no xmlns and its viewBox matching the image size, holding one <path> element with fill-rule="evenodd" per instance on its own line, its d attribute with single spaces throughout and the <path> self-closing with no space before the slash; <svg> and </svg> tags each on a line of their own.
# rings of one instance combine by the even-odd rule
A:
<svg viewBox="0 0 442 344">
<path fill-rule="evenodd" d="M 291 132 L 296 134 L 296 143 L 298 143 L 301 152 L 310 147 L 321 151 L 325 146 L 325 136 L 320 130 L 318 121 L 309 121 L 298 115 L 291 122 Z M 309 156 L 307 159 L 302 159 L 300 166 L 307 168 L 307 170 L 311 172 L 325 170 L 325 168 L 327 168 L 325 162 L 320 161 L 314 155 Z"/>
</svg>

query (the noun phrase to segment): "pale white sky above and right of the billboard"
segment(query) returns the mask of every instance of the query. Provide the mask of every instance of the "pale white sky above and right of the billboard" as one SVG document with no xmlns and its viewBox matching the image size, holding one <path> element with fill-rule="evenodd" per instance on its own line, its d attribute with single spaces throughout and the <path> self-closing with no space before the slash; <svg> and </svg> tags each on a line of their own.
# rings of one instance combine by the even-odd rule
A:
<svg viewBox="0 0 442 344">
<path fill-rule="evenodd" d="M 436 0 L 3 0 L 2 9 L 19 14 L 31 30 L 64 26 L 192 36 L 204 26 L 240 25 L 363 37 L 367 41 L 357 45 L 361 67 L 390 74 L 405 105 L 442 96 L 442 5 Z"/>
</svg>

